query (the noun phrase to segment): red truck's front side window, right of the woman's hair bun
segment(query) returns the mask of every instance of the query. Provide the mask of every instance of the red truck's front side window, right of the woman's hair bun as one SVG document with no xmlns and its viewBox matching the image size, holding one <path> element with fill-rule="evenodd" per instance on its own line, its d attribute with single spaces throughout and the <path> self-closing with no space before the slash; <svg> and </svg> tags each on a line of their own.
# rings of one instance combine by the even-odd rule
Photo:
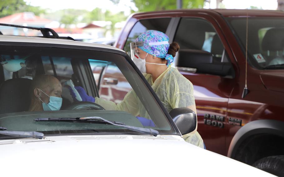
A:
<svg viewBox="0 0 284 177">
<path fill-rule="evenodd" d="M 174 41 L 180 49 L 203 50 L 212 53 L 213 63 L 228 62 L 223 56 L 224 46 L 213 28 L 203 19 L 182 18 L 179 22 Z"/>
</svg>

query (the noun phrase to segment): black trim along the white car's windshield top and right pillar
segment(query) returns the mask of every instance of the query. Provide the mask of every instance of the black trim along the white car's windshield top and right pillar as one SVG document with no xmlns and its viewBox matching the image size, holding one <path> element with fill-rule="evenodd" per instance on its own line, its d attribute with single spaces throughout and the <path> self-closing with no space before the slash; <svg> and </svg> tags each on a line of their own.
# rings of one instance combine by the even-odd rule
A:
<svg viewBox="0 0 284 177">
<path fill-rule="evenodd" d="M 47 44 L 47 43 L 31 43 L 31 42 L 0 42 L 1 45 L 11 45 L 11 46 L 32 46 L 32 47 L 54 47 L 54 48 L 66 48 L 66 49 L 79 49 L 79 50 L 91 50 L 91 51 L 102 51 L 102 52 L 110 52 L 122 55 L 129 64 L 134 68 L 134 70 L 137 72 L 137 74 L 140 76 L 140 78 L 143 80 L 149 91 L 152 93 L 154 98 L 156 99 L 157 103 L 163 110 L 164 114 L 168 118 L 170 124 L 173 126 L 174 130 L 177 132 L 179 136 L 182 136 L 182 134 L 179 132 L 178 127 L 174 123 L 172 117 L 169 115 L 169 112 L 164 107 L 163 103 L 160 101 L 159 97 L 156 95 L 152 87 L 149 85 L 148 81 L 145 79 L 143 74 L 140 72 L 140 70 L 137 68 L 135 63 L 130 59 L 130 57 L 127 55 L 125 51 L 120 50 L 114 50 L 114 49 L 108 49 L 108 48 L 100 48 L 100 47 L 90 47 L 90 46 L 78 46 L 78 45 L 64 45 L 64 44 Z"/>
</svg>

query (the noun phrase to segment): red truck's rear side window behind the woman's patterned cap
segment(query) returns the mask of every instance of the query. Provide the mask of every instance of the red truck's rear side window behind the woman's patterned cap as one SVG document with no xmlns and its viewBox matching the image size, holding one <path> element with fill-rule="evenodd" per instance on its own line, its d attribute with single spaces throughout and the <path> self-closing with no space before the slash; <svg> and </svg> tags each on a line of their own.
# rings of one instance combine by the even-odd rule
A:
<svg viewBox="0 0 284 177">
<path fill-rule="evenodd" d="M 125 42 L 123 50 L 130 55 L 130 42 L 133 42 L 141 33 L 147 30 L 157 30 L 163 33 L 166 32 L 171 18 L 155 18 L 140 20 L 137 22 L 130 31 Z"/>
</svg>

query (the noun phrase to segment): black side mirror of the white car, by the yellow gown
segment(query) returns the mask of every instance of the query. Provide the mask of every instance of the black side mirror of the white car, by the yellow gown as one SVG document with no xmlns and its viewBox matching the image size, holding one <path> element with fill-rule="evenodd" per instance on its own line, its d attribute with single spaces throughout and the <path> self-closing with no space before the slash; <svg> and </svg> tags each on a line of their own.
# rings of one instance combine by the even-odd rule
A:
<svg viewBox="0 0 284 177">
<path fill-rule="evenodd" d="M 182 135 L 193 132 L 197 126 L 196 114 L 189 108 L 174 108 L 169 112 L 169 115 Z"/>
</svg>

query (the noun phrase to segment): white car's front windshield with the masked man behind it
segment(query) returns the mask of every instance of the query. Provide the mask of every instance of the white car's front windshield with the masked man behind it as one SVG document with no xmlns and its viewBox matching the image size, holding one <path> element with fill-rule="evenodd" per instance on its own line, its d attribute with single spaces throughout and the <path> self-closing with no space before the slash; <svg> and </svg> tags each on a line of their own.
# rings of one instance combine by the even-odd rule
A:
<svg viewBox="0 0 284 177">
<path fill-rule="evenodd" d="M 127 55 L 95 47 L 4 44 L 0 50 L 0 127 L 7 131 L 137 133 L 111 124 L 116 123 L 151 128 L 159 134 L 176 133 Z"/>
</svg>

